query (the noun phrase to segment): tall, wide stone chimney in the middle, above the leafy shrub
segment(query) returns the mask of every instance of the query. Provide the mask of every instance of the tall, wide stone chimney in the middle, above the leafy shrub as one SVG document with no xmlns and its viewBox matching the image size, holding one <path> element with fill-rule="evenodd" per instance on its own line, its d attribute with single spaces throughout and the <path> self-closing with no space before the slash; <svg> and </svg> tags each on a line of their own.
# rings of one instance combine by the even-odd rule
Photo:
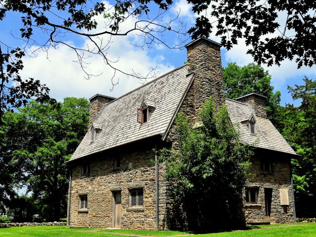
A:
<svg viewBox="0 0 316 237">
<path fill-rule="evenodd" d="M 213 40 L 199 38 L 188 43 L 189 73 L 194 73 L 196 112 L 212 96 L 217 108 L 225 103 L 221 45 Z"/>
</svg>

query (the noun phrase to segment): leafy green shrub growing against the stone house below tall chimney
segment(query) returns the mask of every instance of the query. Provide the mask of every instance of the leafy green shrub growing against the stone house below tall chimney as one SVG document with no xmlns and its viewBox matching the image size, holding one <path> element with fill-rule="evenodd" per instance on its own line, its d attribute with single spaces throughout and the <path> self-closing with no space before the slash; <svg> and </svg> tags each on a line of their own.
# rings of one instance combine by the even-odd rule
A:
<svg viewBox="0 0 316 237">
<path fill-rule="evenodd" d="M 210 99 L 201 109 L 195 126 L 178 114 L 176 127 L 178 150 L 164 149 L 159 156 L 165 161 L 166 178 L 173 186 L 173 210 L 190 216 L 186 220 L 188 228 L 197 231 L 240 224 L 238 205 L 253 151 L 238 142 L 226 107 L 216 113 Z M 180 222 L 178 228 L 183 229 L 182 218 L 170 222 Z"/>
</svg>

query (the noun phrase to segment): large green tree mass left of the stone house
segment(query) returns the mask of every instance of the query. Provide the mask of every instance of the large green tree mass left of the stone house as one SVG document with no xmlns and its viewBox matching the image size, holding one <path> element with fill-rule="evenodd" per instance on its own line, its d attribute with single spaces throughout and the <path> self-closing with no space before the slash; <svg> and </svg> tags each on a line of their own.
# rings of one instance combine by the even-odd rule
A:
<svg viewBox="0 0 316 237">
<path fill-rule="evenodd" d="M 7 197 L 6 206 L 16 194 L 13 187 L 25 185 L 39 202 L 47 221 L 66 215 L 69 173 L 65 166 L 83 138 L 88 123 L 86 99 L 65 98 L 63 103 L 29 102 L 17 112 L 5 115 L 0 170 Z M 15 198 L 16 199 L 16 198 Z"/>
</svg>

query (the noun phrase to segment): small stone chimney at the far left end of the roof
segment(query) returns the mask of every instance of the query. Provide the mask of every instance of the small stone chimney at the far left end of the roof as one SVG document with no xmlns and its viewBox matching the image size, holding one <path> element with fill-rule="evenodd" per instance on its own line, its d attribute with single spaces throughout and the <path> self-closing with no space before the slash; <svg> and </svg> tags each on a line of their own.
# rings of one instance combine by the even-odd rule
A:
<svg viewBox="0 0 316 237">
<path fill-rule="evenodd" d="M 90 110 L 89 110 L 89 129 L 92 125 L 92 123 L 97 119 L 98 113 L 101 111 L 101 109 L 109 102 L 114 100 L 114 97 L 106 96 L 106 95 L 100 95 L 96 94 L 92 96 L 90 101 Z"/>
</svg>

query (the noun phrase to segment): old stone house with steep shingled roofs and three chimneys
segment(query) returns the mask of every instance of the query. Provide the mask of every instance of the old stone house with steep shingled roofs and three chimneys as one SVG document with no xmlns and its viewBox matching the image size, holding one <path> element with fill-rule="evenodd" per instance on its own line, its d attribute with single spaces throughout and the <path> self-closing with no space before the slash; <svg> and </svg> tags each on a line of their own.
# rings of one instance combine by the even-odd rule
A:
<svg viewBox="0 0 316 237">
<path fill-rule="evenodd" d="M 290 158 L 296 154 L 267 118 L 266 97 L 226 99 L 220 44 L 198 39 L 186 48 L 187 64 L 117 99 L 90 98 L 89 131 L 67 162 L 69 227 L 168 229 L 168 183 L 156 151 L 176 146 L 176 114 L 194 122 L 209 96 L 227 105 L 241 141 L 257 143 L 242 197 L 245 220 L 295 221 Z"/>
</svg>

